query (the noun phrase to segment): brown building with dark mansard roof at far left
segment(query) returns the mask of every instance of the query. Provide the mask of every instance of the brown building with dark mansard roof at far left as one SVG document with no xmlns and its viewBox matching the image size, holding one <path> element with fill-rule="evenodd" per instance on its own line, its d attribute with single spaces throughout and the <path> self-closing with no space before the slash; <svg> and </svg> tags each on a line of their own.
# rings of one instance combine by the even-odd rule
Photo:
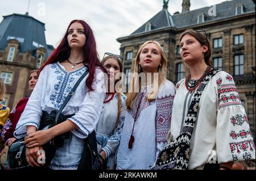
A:
<svg viewBox="0 0 256 181">
<path fill-rule="evenodd" d="M 30 95 L 31 70 L 42 65 L 53 47 L 46 44 L 44 23 L 29 16 L 3 16 L 0 23 L 0 78 L 5 81 L 5 104 L 11 109 Z"/>
</svg>

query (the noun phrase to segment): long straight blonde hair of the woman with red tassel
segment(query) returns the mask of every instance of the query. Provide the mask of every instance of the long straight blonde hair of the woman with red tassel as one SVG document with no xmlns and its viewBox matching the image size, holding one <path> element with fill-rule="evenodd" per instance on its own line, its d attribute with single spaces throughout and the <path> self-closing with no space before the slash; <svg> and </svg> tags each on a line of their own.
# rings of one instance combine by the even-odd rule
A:
<svg viewBox="0 0 256 181">
<path fill-rule="evenodd" d="M 167 60 L 166 60 L 166 56 L 164 55 L 164 52 L 161 48 L 161 45 L 157 42 L 157 41 L 147 41 L 146 43 L 144 43 L 138 50 L 137 56 L 136 56 L 136 61 L 134 64 L 134 71 L 133 71 L 133 76 L 131 77 L 131 84 L 129 87 L 129 92 L 127 93 L 127 98 L 126 98 L 126 106 L 127 109 L 131 110 L 131 107 L 133 106 L 133 103 L 135 102 L 137 96 L 138 96 L 138 92 L 134 91 L 134 87 L 135 85 L 139 85 L 139 91 L 141 90 L 141 86 L 142 86 L 142 82 L 141 79 L 139 79 L 139 77 L 137 76 L 137 74 L 140 74 L 143 72 L 143 70 L 141 68 L 139 68 L 139 56 L 141 55 L 142 49 L 145 47 L 145 45 L 149 44 L 149 43 L 153 43 L 156 45 L 156 47 L 158 48 L 160 54 L 161 54 L 161 62 L 160 64 L 162 64 L 161 67 L 159 67 L 158 69 L 158 76 L 154 76 L 154 81 L 153 81 L 153 85 L 152 85 L 152 89 L 150 90 L 150 92 L 147 93 L 146 95 L 146 99 L 149 102 L 152 102 L 153 100 L 155 100 L 156 96 L 158 96 L 158 90 L 160 85 L 166 81 L 166 73 L 167 73 Z"/>
</svg>

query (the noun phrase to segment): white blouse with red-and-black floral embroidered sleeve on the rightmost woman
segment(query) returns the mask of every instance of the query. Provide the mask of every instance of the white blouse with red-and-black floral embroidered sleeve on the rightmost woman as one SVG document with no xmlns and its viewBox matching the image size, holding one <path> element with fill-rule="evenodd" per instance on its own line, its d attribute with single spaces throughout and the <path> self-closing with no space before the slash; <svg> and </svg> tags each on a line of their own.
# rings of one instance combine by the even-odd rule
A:
<svg viewBox="0 0 256 181">
<path fill-rule="evenodd" d="M 185 79 L 176 84 L 170 135 L 179 136 L 193 94 Z M 204 163 L 255 159 L 255 145 L 245 109 L 241 105 L 231 75 L 220 71 L 205 87 L 199 102 L 191 138 L 188 169 L 203 168 Z"/>
</svg>

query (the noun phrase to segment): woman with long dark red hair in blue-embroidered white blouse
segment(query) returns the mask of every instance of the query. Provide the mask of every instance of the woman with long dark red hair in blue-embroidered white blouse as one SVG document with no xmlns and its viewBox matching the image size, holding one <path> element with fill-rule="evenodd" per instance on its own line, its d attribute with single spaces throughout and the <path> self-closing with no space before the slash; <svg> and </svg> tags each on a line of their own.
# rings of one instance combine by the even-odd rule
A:
<svg viewBox="0 0 256 181">
<path fill-rule="evenodd" d="M 89 74 L 61 112 L 69 118 L 54 127 L 37 131 L 42 115 L 59 110 L 68 92 L 88 69 Z M 83 20 L 72 20 L 59 46 L 39 69 L 38 83 L 14 132 L 16 138 L 27 134 L 26 156 L 31 166 L 42 165 L 37 162 L 37 152 L 43 149 L 43 144 L 69 132 L 69 138 L 57 148 L 49 168 L 78 168 L 84 138 L 96 128 L 104 101 L 105 82 L 103 76 L 99 76 L 102 71 L 105 70 L 98 60 L 92 29 Z"/>
</svg>

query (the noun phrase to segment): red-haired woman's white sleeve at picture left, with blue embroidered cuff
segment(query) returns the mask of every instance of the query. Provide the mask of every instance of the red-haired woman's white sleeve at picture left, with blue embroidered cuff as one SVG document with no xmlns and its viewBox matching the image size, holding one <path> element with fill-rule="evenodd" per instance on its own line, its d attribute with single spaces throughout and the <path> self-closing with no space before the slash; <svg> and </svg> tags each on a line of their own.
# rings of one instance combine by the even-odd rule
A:
<svg viewBox="0 0 256 181">
<path fill-rule="evenodd" d="M 35 85 L 34 90 L 31 93 L 30 98 L 28 99 L 27 105 L 20 116 L 20 119 L 16 125 L 14 136 L 16 138 L 24 137 L 27 132 L 26 126 L 33 125 L 36 129 L 39 128 L 41 116 L 42 116 L 42 98 L 44 90 L 44 82 L 47 82 L 47 68 L 46 66 L 40 73 L 38 82 Z"/>
</svg>

